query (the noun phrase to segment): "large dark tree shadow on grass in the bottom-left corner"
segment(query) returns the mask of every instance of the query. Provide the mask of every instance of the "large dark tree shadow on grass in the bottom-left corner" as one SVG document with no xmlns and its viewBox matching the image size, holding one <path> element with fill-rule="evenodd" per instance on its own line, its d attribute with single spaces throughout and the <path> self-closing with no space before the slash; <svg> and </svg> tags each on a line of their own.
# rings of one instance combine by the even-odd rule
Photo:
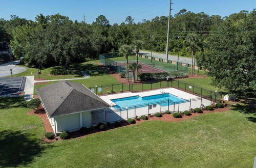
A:
<svg viewBox="0 0 256 168">
<path fill-rule="evenodd" d="M 0 131 L 0 167 L 26 166 L 44 150 L 29 136 L 21 131 Z"/>
</svg>

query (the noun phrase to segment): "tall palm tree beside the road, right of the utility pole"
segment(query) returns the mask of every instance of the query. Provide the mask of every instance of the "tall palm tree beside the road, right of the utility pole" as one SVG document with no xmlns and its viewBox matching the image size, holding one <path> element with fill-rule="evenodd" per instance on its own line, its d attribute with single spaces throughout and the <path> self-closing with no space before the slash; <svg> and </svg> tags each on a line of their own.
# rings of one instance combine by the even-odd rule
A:
<svg viewBox="0 0 256 168">
<path fill-rule="evenodd" d="M 193 70 L 195 71 L 195 66 L 193 62 L 195 62 L 195 52 L 198 49 L 198 37 L 196 34 L 188 34 L 185 39 L 185 45 L 187 49 L 191 51 L 191 58 L 192 58 L 192 71 L 191 76 L 193 75 Z"/>
</svg>

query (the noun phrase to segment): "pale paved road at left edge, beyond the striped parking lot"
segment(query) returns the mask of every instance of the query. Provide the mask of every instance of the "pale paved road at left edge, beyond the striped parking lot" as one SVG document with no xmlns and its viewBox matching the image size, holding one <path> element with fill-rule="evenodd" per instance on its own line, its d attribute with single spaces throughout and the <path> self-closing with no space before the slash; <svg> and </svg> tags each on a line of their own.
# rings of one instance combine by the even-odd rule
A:
<svg viewBox="0 0 256 168">
<path fill-rule="evenodd" d="M 12 69 L 13 75 L 27 70 L 24 67 L 16 66 L 17 64 L 19 64 L 19 61 L 11 61 L 6 64 L 1 64 L 0 65 L 0 77 L 11 76 L 10 69 Z"/>
</svg>

